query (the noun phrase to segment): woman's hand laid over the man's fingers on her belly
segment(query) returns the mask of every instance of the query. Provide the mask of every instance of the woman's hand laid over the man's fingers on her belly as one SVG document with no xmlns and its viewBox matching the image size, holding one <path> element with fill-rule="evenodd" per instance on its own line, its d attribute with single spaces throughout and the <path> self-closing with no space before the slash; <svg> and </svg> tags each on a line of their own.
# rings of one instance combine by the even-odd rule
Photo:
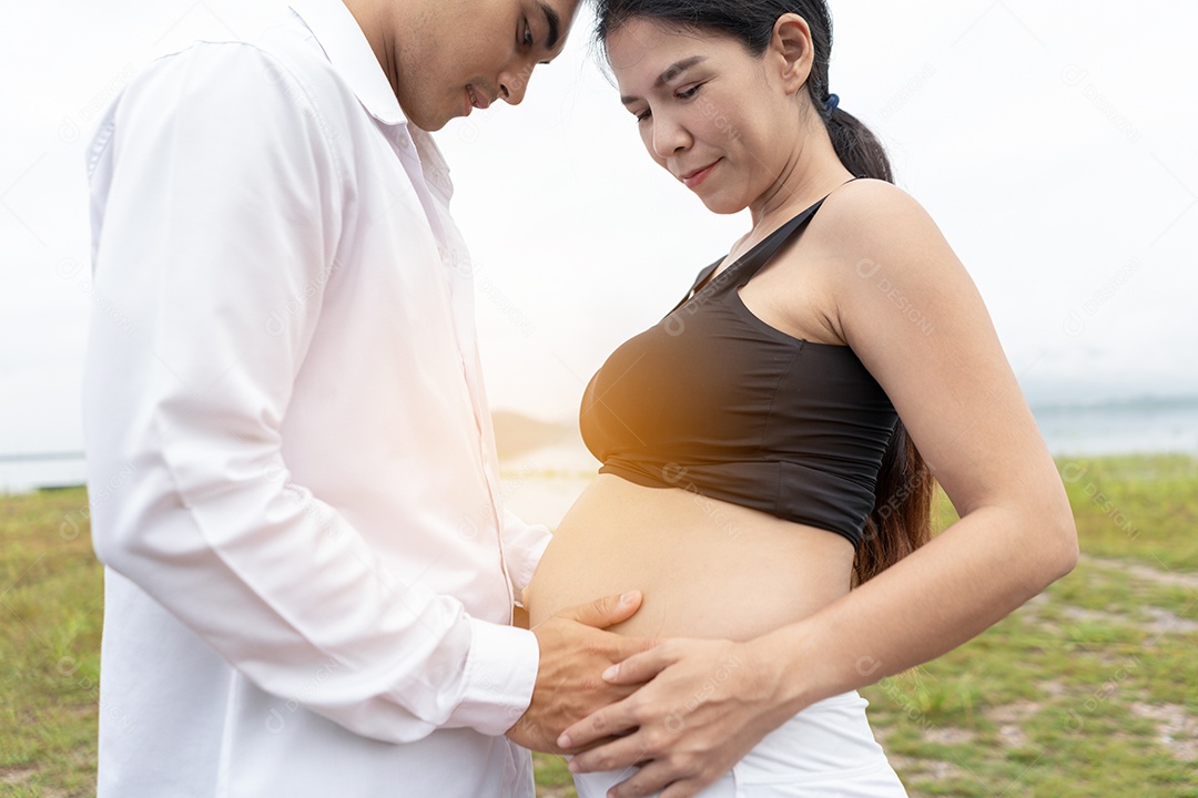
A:
<svg viewBox="0 0 1198 798">
<path fill-rule="evenodd" d="M 640 763 L 640 770 L 619 785 L 628 791 L 622 794 L 646 796 L 672 785 L 671 794 L 692 796 L 793 714 L 780 700 L 781 669 L 752 641 L 667 640 L 612 665 L 604 680 L 648 683 L 567 729 L 557 744 L 586 748 L 616 735 L 615 741 L 575 756 L 570 770 L 618 770 Z"/>
</svg>

